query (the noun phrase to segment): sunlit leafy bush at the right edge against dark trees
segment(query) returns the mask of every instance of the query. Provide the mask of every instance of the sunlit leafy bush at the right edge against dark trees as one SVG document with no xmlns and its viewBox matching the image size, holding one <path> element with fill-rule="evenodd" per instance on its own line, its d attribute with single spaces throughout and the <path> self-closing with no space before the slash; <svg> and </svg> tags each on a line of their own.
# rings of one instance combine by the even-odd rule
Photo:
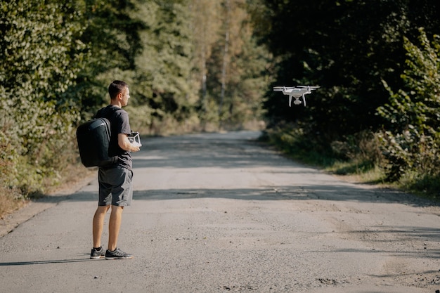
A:
<svg viewBox="0 0 440 293">
<path fill-rule="evenodd" d="M 380 133 L 387 174 L 396 181 L 408 171 L 438 176 L 440 170 L 440 37 L 432 44 L 420 30 L 420 47 L 405 38 L 408 60 L 402 74 L 407 91 L 389 90 L 389 103 L 379 115 L 392 124 Z"/>
</svg>

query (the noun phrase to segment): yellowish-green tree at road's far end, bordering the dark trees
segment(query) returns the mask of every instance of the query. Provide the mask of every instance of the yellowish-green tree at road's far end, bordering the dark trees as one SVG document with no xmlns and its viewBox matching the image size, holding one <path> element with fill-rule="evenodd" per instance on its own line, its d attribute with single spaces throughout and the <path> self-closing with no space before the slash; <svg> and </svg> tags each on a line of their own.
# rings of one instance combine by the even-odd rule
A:
<svg viewBox="0 0 440 293">
<path fill-rule="evenodd" d="M 233 126 L 261 114 L 270 58 L 266 47 L 258 46 L 253 37 L 248 11 L 251 7 L 246 1 L 229 0 L 222 4 L 222 26 L 207 61 L 207 88 L 218 109 L 219 122 Z"/>
</svg>

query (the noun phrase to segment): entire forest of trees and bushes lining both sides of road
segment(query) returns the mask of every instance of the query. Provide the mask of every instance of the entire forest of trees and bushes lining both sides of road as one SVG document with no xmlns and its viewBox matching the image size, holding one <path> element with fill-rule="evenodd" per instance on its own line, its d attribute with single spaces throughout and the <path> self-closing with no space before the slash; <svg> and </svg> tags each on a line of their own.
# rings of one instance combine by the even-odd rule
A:
<svg viewBox="0 0 440 293">
<path fill-rule="evenodd" d="M 9 0 L 0 11 L 0 215 L 80 168 L 75 130 L 114 79 L 129 83 L 144 136 L 259 129 L 304 162 L 440 196 L 437 1 Z M 307 107 L 272 90 L 297 85 L 320 86 Z"/>
</svg>

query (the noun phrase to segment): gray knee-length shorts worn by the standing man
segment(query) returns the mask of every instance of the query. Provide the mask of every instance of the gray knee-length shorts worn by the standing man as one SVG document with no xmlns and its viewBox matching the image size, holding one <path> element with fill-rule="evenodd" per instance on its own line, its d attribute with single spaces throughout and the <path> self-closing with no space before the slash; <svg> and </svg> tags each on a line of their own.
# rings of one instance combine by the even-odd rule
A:
<svg viewBox="0 0 440 293">
<path fill-rule="evenodd" d="M 110 204 L 128 207 L 133 198 L 133 171 L 123 167 L 111 169 L 99 168 L 99 201 L 98 206 Z"/>
</svg>

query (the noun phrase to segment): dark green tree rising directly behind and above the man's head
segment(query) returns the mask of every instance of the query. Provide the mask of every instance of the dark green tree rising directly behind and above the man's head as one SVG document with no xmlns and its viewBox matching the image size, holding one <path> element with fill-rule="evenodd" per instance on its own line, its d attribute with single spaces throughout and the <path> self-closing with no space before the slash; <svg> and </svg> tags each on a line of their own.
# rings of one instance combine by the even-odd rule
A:
<svg viewBox="0 0 440 293">
<path fill-rule="evenodd" d="M 105 89 L 113 79 L 132 75 L 143 48 L 139 32 L 145 27 L 136 18 L 136 8 L 146 2 L 77 0 L 84 23 L 80 41 L 86 44 L 87 59 L 67 94 L 80 105 L 83 116 L 108 102 Z"/>
</svg>

